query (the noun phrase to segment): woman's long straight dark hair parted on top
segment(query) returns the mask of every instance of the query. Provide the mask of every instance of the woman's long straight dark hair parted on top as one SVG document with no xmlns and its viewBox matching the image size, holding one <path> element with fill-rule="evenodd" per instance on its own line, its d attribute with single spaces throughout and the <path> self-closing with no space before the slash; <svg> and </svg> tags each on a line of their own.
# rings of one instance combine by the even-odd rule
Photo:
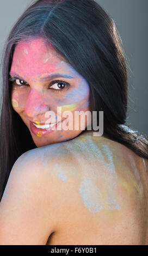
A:
<svg viewBox="0 0 148 256">
<path fill-rule="evenodd" d="M 103 135 L 148 159 L 147 139 L 126 125 L 127 65 L 113 19 L 94 0 L 38 0 L 11 29 L 2 58 L 0 199 L 17 158 L 36 148 L 29 130 L 11 106 L 8 80 L 15 45 L 35 36 L 50 42 L 88 81 L 93 110 L 104 112 Z"/>
</svg>

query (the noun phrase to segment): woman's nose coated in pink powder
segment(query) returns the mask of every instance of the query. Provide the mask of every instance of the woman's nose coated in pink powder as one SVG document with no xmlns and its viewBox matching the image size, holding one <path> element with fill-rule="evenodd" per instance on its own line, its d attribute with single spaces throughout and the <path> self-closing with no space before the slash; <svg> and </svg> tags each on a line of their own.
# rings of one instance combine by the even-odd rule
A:
<svg viewBox="0 0 148 256">
<path fill-rule="evenodd" d="M 26 114 L 29 117 L 35 117 L 35 115 L 39 115 L 49 110 L 50 107 L 44 103 L 44 97 L 35 89 L 30 90 L 25 106 Z"/>
</svg>

